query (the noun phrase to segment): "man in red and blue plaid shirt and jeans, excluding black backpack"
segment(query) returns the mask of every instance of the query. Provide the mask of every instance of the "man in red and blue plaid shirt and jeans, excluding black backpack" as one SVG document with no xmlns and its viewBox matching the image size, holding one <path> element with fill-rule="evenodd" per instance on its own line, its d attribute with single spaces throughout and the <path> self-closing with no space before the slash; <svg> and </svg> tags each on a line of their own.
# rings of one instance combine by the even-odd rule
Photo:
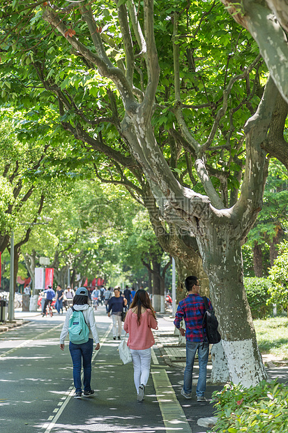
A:
<svg viewBox="0 0 288 433">
<path fill-rule="evenodd" d="M 192 392 L 192 373 L 196 352 L 198 351 L 199 378 L 196 394 L 197 402 L 206 402 L 204 393 L 206 390 L 206 369 L 209 356 L 209 343 L 204 342 L 202 335 L 202 321 L 206 311 L 204 300 L 199 295 L 199 281 L 197 277 L 190 275 L 185 279 L 185 288 L 188 296 L 179 302 L 174 320 L 174 325 L 179 329 L 181 335 L 186 337 L 186 367 L 184 372 L 184 383 L 181 395 L 190 399 Z M 212 309 L 209 300 L 209 309 Z M 186 331 L 181 328 L 184 319 Z M 206 335 L 204 334 L 204 337 Z"/>
</svg>

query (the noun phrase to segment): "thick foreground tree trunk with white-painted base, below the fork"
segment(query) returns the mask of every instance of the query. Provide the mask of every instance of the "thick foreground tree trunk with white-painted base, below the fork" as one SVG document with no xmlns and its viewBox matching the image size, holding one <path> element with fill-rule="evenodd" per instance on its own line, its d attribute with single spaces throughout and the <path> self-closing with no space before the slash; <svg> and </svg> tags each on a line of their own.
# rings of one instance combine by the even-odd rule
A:
<svg viewBox="0 0 288 433">
<path fill-rule="evenodd" d="M 199 237 L 199 246 L 209 275 L 229 376 L 233 383 L 241 382 L 246 388 L 256 386 L 267 380 L 267 374 L 243 285 L 241 242 L 227 223 L 207 229 Z"/>
</svg>

